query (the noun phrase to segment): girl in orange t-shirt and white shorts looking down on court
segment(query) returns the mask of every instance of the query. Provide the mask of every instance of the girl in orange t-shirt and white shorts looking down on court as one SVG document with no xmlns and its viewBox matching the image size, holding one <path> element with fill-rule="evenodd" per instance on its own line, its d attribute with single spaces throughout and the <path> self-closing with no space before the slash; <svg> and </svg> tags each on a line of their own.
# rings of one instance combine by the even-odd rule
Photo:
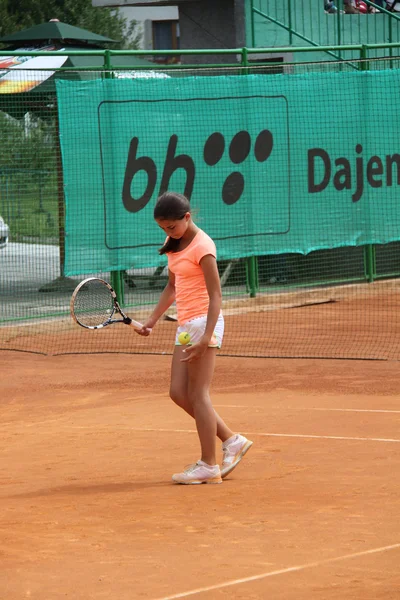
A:
<svg viewBox="0 0 400 600">
<path fill-rule="evenodd" d="M 212 239 L 192 221 L 188 199 L 165 192 L 156 203 L 154 219 L 167 234 L 160 254 L 167 254 L 168 283 L 157 306 L 139 332 L 149 335 L 164 312 L 176 301 L 178 329 L 171 369 L 171 399 L 196 421 L 201 459 L 176 473 L 176 483 L 222 483 L 253 442 L 234 434 L 214 411 L 209 388 L 216 349 L 221 347 L 224 318 L 216 249 Z M 190 335 L 182 346 L 178 336 Z M 221 469 L 215 454 L 215 436 L 223 442 Z"/>
</svg>

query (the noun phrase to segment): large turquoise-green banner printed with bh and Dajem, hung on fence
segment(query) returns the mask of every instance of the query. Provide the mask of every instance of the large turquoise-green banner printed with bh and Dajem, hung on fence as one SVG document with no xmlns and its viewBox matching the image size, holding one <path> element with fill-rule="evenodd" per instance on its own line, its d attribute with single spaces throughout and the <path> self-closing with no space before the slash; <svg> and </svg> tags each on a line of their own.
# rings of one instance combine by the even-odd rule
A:
<svg viewBox="0 0 400 600">
<path fill-rule="evenodd" d="M 165 189 L 190 197 L 221 259 L 396 241 L 398 111 L 378 138 L 340 105 L 327 119 L 324 99 L 370 104 L 399 83 L 397 70 L 59 81 L 66 273 L 158 266 Z"/>
</svg>

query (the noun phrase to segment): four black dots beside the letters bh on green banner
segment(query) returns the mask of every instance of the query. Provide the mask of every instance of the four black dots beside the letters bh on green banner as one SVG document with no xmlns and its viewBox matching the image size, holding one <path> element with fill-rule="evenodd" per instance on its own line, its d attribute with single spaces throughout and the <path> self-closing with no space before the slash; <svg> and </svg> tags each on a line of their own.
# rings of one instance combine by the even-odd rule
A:
<svg viewBox="0 0 400 600">
<path fill-rule="evenodd" d="M 223 157 L 225 151 L 225 138 L 222 133 L 212 133 L 204 144 L 204 162 L 214 167 Z M 254 157 L 257 162 L 266 161 L 271 155 L 274 145 L 272 133 L 268 129 L 261 131 L 254 143 Z M 251 137 L 248 131 L 236 133 L 229 144 L 229 159 L 234 165 L 242 164 L 249 156 L 251 150 Z M 241 197 L 245 188 L 242 173 L 233 171 L 222 185 L 222 200 L 225 204 L 235 204 Z"/>
</svg>

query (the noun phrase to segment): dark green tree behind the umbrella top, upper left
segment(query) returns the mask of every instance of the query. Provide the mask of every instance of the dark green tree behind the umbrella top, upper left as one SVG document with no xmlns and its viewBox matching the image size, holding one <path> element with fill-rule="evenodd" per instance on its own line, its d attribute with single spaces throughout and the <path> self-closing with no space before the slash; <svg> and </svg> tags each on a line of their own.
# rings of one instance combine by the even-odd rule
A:
<svg viewBox="0 0 400 600">
<path fill-rule="evenodd" d="M 113 48 L 134 50 L 139 45 L 136 21 L 128 22 L 118 9 L 95 8 L 91 0 L 0 0 L 0 37 L 50 19 L 117 40 Z"/>
</svg>

